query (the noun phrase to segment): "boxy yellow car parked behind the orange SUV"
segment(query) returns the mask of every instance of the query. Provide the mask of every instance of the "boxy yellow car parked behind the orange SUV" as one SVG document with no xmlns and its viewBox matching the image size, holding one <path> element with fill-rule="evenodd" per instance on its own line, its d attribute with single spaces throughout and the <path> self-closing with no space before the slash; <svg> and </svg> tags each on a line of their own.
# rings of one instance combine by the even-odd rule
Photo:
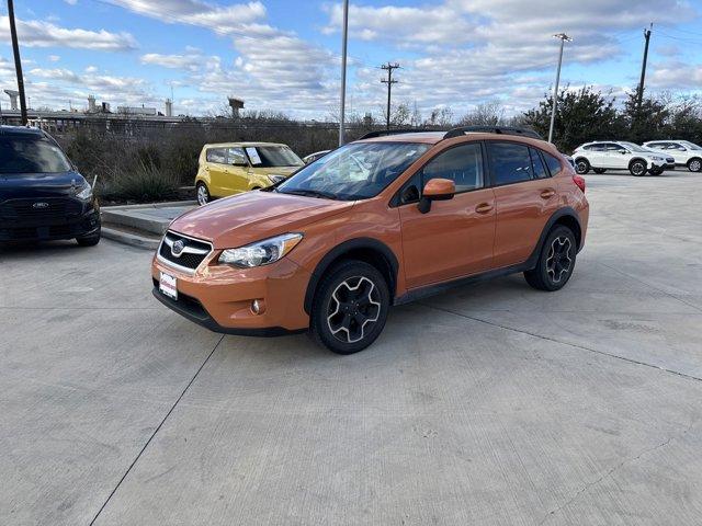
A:
<svg viewBox="0 0 702 526">
<path fill-rule="evenodd" d="M 286 145 L 224 142 L 205 145 L 195 176 L 197 203 L 265 188 L 287 179 L 305 163 Z"/>
</svg>

